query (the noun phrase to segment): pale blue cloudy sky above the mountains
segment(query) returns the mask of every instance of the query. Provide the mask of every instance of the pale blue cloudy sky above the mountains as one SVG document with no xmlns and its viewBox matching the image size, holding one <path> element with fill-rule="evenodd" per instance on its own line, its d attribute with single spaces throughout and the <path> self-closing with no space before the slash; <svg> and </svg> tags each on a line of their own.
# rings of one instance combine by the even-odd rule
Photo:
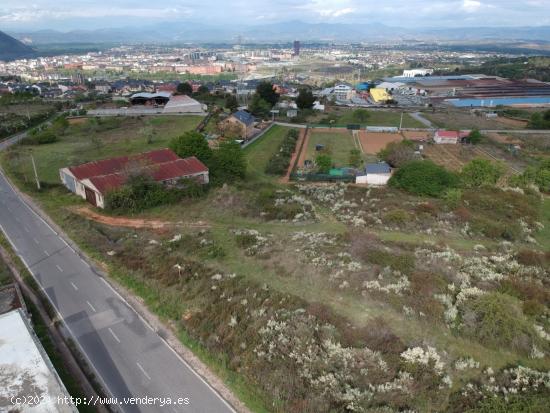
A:
<svg viewBox="0 0 550 413">
<path fill-rule="evenodd" d="M 401 27 L 550 25 L 550 0 L 0 0 L 0 30 L 74 30 L 160 22 L 281 21 Z"/>
</svg>

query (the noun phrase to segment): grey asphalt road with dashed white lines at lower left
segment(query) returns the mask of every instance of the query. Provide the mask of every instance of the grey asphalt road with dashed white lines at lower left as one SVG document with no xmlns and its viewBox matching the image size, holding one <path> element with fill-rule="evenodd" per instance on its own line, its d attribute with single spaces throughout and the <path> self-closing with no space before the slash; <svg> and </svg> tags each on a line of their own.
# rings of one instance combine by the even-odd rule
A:
<svg viewBox="0 0 550 413">
<path fill-rule="evenodd" d="M 97 377 L 123 397 L 189 404 L 120 405 L 124 412 L 233 412 L 0 174 L 0 229 L 43 288 Z M 183 402 L 183 400 L 182 400 Z"/>
</svg>

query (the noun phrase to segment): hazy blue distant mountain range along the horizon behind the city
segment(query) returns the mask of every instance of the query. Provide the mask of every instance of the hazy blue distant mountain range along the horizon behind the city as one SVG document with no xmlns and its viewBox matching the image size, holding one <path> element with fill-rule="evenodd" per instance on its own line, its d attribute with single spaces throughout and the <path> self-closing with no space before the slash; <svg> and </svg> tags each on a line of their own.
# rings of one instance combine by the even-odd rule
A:
<svg viewBox="0 0 550 413">
<path fill-rule="evenodd" d="M 167 22 L 148 26 L 73 30 L 40 30 L 11 33 L 32 44 L 47 43 L 244 43 L 302 41 L 360 42 L 388 40 L 523 40 L 550 42 L 550 26 L 539 27 L 468 27 L 401 28 L 379 23 L 335 24 L 290 21 L 262 26 L 214 26 L 196 22 Z"/>
</svg>

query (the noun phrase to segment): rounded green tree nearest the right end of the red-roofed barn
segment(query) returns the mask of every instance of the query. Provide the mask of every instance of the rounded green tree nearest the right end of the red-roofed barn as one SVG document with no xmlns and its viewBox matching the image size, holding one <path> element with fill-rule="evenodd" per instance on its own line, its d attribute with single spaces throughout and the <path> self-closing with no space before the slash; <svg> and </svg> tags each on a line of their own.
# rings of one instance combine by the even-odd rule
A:
<svg viewBox="0 0 550 413">
<path fill-rule="evenodd" d="M 213 152 L 208 167 L 217 183 L 234 182 L 246 175 L 246 159 L 241 145 L 233 140 L 222 142 Z"/>
</svg>

